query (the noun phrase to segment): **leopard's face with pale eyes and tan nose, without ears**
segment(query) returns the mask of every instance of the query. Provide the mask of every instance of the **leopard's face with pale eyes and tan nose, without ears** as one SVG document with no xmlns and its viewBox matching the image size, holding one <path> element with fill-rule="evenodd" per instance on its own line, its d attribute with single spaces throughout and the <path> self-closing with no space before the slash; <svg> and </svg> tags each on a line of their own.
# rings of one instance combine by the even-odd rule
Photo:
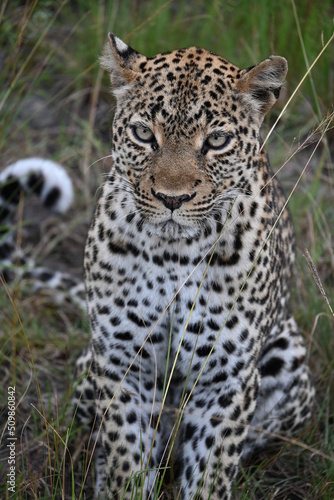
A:
<svg viewBox="0 0 334 500">
<path fill-rule="evenodd" d="M 113 159 L 127 206 L 141 226 L 169 238 L 221 227 L 236 196 L 252 193 L 259 128 L 273 93 L 254 93 L 252 103 L 243 91 L 247 70 L 203 49 L 123 55 Z"/>
</svg>

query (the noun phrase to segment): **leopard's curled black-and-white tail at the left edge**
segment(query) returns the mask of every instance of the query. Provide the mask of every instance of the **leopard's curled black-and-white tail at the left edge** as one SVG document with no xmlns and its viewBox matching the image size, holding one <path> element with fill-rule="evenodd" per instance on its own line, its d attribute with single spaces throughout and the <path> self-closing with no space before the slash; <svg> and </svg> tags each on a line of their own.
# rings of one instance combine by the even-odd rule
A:
<svg viewBox="0 0 334 500">
<path fill-rule="evenodd" d="M 73 274 L 39 265 L 21 244 L 29 240 L 29 221 L 19 216 L 20 205 L 36 196 L 56 216 L 73 203 L 73 183 L 66 169 L 50 159 L 17 160 L 0 173 L 0 278 L 3 286 L 25 282 L 33 293 L 46 292 L 52 302 L 70 301 L 80 312 L 86 308 L 83 280 Z M 20 228 L 18 231 L 17 229 Z"/>
</svg>

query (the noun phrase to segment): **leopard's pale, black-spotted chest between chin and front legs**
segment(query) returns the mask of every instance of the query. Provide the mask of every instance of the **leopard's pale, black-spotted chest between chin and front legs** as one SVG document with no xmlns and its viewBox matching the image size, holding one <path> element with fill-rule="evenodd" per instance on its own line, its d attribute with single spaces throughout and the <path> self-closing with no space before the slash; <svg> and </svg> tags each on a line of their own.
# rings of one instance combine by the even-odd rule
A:
<svg viewBox="0 0 334 500">
<path fill-rule="evenodd" d="M 203 366 L 226 364 L 222 377 L 231 377 L 240 359 L 257 356 L 274 321 L 263 312 L 272 281 L 270 248 L 261 249 L 266 233 L 259 238 L 254 223 L 239 226 L 231 224 L 212 241 L 168 241 L 123 229 L 112 218 L 96 220 L 86 278 L 101 365 L 112 356 L 126 368 L 136 357 L 140 370 L 156 366 L 163 376 L 167 360 L 176 360 L 178 376 L 191 367 L 194 381 Z M 262 262 L 254 266 L 256 251 Z"/>
</svg>

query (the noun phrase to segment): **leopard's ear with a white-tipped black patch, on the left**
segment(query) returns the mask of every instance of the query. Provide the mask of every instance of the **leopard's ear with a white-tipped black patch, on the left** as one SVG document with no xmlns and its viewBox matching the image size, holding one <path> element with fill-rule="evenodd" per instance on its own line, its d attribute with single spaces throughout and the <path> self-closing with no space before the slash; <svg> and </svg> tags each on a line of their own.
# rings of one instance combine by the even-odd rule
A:
<svg viewBox="0 0 334 500">
<path fill-rule="evenodd" d="M 128 86 L 140 72 L 139 64 L 146 60 L 129 45 L 117 38 L 113 33 L 108 34 L 108 42 L 100 58 L 102 68 L 110 74 L 110 81 L 117 95 L 117 89 Z"/>
</svg>

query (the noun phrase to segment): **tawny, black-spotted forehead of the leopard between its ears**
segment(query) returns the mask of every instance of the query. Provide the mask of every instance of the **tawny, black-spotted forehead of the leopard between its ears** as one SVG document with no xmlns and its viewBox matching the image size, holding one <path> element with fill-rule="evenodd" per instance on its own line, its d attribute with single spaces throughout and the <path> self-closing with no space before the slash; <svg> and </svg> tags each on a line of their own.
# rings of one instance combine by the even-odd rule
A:
<svg viewBox="0 0 334 500">
<path fill-rule="evenodd" d="M 153 119 L 161 113 L 166 114 L 165 119 L 169 114 L 173 119 L 182 114 L 183 119 L 203 118 L 206 122 L 218 115 L 228 119 L 228 110 L 221 108 L 222 100 L 234 100 L 233 84 L 241 70 L 226 59 L 190 47 L 147 58 L 139 69 L 138 83 L 145 97 L 140 107 L 147 110 L 147 102 L 151 103 Z"/>
</svg>

